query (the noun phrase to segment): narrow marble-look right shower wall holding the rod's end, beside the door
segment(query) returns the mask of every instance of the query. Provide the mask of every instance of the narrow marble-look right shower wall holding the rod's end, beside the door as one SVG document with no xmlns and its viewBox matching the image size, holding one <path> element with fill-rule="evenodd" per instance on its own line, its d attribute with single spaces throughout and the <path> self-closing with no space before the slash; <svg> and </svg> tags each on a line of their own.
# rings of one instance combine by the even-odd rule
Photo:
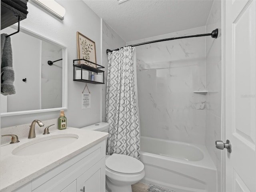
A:
<svg viewBox="0 0 256 192">
<path fill-rule="evenodd" d="M 221 28 L 221 1 L 215 0 L 206 24 L 206 31 Z M 221 150 L 215 141 L 221 140 L 221 37 L 206 39 L 206 148 L 217 168 L 220 191 Z"/>
</svg>

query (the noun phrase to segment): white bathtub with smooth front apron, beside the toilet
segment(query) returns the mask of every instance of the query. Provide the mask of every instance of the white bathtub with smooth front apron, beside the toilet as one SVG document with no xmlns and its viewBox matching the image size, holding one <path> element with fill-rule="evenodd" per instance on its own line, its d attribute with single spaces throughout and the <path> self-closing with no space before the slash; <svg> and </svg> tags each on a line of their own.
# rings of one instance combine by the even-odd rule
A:
<svg viewBox="0 0 256 192">
<path fill-rule="evenodd" d="M 175 192 L 216 192 L 217 171 L 205 146 L 141 136 L 141 182 Z"/>
</svg>

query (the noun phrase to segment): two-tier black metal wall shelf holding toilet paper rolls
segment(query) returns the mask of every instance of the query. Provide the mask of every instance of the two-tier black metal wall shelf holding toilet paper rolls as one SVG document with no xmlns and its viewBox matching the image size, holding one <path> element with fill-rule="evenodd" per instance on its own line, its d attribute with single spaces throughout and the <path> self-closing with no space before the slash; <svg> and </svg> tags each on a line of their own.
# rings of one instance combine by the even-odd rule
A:
<svg viewBox="0 0 256 192">
<path fill-rule="evenodd" d="M 88 66 L 86 64 L 81 64 L 80 61 L 85 61 L 85 62 L 89 62 L 91 64 L 96 65 L 97 68 Z M 85 59 L 74 59 L 73 60 L 73 81 L 79 81 L 79 82 L 84 82 L 84 83 L 92 83 L 92 84 L 104 84 L 104 71 L 101 70 L 102 68 L 105 68 L 104 66 L 98 65 L 96 63 L 90 62 L 88 60 Z M 82 74 L 82 70 L 87 70 L 89 72 L 88 75 L 88 79 L 90 79 L 92 72 L 98 74 L 98 73 L 102 73 L 102 82 L 97 82 L 97 81 L 91 81 L 91 80 L 86 80 L 86 79 L 82 79 L 82 75 L 81 75 L 81 79 L 76 79 L 76 70 L 81 70 L 81 74 Z"/>
</svg>

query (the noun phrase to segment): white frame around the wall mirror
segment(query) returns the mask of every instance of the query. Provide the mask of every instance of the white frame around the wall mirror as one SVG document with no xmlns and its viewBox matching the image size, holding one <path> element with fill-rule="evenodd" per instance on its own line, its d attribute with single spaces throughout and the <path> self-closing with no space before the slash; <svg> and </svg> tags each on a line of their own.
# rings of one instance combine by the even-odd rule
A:
<svg viewBox="0 0 256 192">
<path fill-rule="evenodd" d="M 18 25 L 14 24 L 10 26 L 17 30 Z M 54 44 L 56 46 L 59 46 L 60 48 L 63 48 L 62 58 L 64 62 L 62 63 L 62 107 L 59 108 L 49 108 L 49 109 L 37 109 L 37 110 L 27 110 L 27 111 L 16 111 L 16 112 L 4 112 L 1 113 L 1 117 L 4 116 L 13 116 L 13 115 L 23 115 L 23 114 L 32 114 L 32 113 L 41 113 L 41 112 L 50 112 L 50 111 L 59 111 L 59 110 L 66 110 L 68 108 L 68 50 L 67 47 L 59 44 L 58 42 L 55 42 L 53 40 L 50 40 L 44 36 L 41 36 L 39 34 L 36 34 L 26 28 L 20 27 L 20 31 L 24 32 L 28 35 L 31 35 L 33 37 L 39 38 L 41 40 L 44 40 L 48 43 Z"/>
</svg>

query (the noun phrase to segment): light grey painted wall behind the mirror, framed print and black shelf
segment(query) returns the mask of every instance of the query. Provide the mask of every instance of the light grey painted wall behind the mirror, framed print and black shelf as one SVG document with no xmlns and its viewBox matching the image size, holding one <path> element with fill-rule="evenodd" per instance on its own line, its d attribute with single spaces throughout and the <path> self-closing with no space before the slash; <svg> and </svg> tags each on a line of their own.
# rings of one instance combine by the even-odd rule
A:
<svg viewBox="0 0 256 192">
<path fill-rule="evenodd" d="M 73 81 L 73 59 L 77 58 L 76 32 L 80 32 L 96 43 L 96 58 L 101 64 L 101 21 L 81 0 L 57 2 L 66 9 L 64 20 L 42 10 L 32 1 L 28 2 L 28 16 L 20 25 L 45 36 L 68 48 L 68 110 L 65 111 L 68 126 L 82 127 L 101 120 L 101 87 L 88 84 L 91 92 L 91 108 L 82 109 L 82 90 L 85 83 Z M 59 116 L 56 112 L 1 117 L 1 127 L 31 123 L 34 119 L 49 120 Z"/>
</svg>

